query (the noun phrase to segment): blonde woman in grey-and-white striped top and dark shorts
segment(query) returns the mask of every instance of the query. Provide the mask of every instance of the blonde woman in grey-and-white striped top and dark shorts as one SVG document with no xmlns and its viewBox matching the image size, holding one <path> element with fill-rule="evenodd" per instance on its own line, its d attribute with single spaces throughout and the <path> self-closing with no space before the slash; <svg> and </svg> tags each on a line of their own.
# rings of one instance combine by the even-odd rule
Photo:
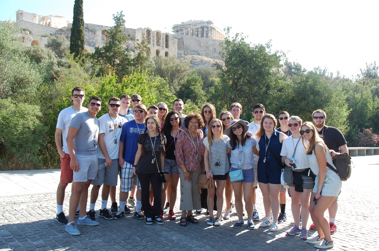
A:
<svg viewBox="0 0 379 251">
<path fill-rule="evenodd" d="M 204 139 L 204 165 L 207 172 L 207 178 L 213 177 L 216 180 L 215 188 L 208 188 L 208 225 L 221 225 L 222 204 L 224 203 L 224 188 L 229 172 L 229 160 L 227 156 L 227 142 L 229 137 L 223 134 L 222 122 L 219 119 L 213 119 L 209 122 L 208 136 Z M 211 166 L 210 166 L 211 165 Z M 213 206 L 215 203 L 215 192 L 217 196 L 217 216 L 213 220 Z"/>
</svg>

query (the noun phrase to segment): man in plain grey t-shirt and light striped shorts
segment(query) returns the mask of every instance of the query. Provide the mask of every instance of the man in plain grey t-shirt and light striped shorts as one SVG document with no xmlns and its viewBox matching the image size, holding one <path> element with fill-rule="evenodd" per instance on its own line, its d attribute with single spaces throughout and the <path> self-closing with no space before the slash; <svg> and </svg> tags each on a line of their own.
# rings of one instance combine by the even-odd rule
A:
<svg viewBox="0 0 379 251">
<path fill-rule="evenodd" d="M 70 154 L 70 166 L 74 171 L 74 189 L 70 196 L 69 220 L 66 231 L 79 235 L 74 221 L 75 212 L 80 204 L 78 225 L 97 226 L 99 222 L 87 216 L 88 187 L 97 175 L 97 139 L 99 120 L 96 118 L 101 109 L 101 99 L 97 96 L 89 99 L 88 111 L 77 114 L 70 122 L 67 133 L 67 148 Z"/>
</svg>

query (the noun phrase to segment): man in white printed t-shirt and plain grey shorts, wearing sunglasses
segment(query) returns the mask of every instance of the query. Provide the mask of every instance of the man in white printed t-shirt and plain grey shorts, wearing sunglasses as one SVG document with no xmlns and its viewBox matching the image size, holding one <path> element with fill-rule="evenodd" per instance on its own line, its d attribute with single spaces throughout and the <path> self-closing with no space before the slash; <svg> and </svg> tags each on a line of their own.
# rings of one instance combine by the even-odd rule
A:
<svg viewBox="0 0 379 251">
<path fill-rule="evenodd" d="M 112 202 L 111 210 L 113 209 L 114 214 L 118 210 L 116 202 L 117 174 L 119 171 L 118 151 L 122 125 L 128 120 L 119 115 L 121 109 L 119 98 L 111 97 L 108 101 L 108 109 L 109 112 L 99 118 L 99 148 L 97 148 L 99 170 L 96 178 L 91 182 L 91 201 L 88 212 L 88 216 L 92 220 L 95 220 L 95 203 L 99 196 L 100 186 L 103 183 L 100 217 L 106 220 L 113 220 L 113 216 L 106 209 L 109 195 L 111 195 Z"/>
</svg>

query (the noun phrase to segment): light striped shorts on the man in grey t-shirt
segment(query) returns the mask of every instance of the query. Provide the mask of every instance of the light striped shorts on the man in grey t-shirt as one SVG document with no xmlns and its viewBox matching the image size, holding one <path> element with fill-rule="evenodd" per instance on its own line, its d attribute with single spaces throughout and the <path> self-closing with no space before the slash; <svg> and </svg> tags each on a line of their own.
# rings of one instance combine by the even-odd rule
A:
<svg viewBox="0 0 379 251">
<path fill-rule="evenodd" d="M 87 182 L 96 177 L 97 169 L 97 154 L 93 155 L 80 155 L 76 154 L 76 159 L 79 163 L 79 170 L 74 172 L 74 182 Z"/>
</svg>

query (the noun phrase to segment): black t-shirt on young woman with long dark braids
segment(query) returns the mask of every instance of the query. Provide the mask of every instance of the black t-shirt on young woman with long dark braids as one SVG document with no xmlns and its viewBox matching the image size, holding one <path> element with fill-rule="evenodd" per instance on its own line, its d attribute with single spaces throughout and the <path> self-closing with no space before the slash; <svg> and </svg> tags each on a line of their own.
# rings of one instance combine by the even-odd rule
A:
<svg viewBox="0 0 379 251">
<path fill-rule="evenodd" d="M 143 142 L 144 135 L 145 135 L 145 140 Z M 163 144 L 166 143 L 166 137 L 164 135 L 162 135 L 162 141 L 163 141 Z M 138 144 L 141 144 L 142 147 L 144 148 L 145 155 L 141 156 L 141 159 L 139 159 L 136 173 L 155 174 L 155 173 L 158 173 L 158 168 L 162 170 L 161 158 L 160 158 L 161 151 L 162 151 L 162 144 L 161 144 L 159 134 L 157 137 L 151 137 L 150 139 L 148 132 L 142 133 L 138 137 Z M 154 146 L 155 154 L 153 154 L 153 146 Z M 154 163 L 152 163 L 153 159 L 155 159 Z"/>
</svg>

